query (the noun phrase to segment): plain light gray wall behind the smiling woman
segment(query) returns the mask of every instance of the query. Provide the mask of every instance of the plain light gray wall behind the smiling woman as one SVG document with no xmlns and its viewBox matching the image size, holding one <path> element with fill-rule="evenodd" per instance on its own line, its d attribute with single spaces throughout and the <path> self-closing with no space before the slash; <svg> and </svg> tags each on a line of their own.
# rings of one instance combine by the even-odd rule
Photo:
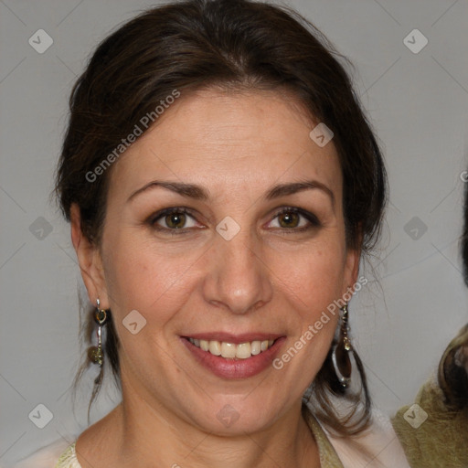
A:
<svg viewBox="0 0 468 468">
<path fill-rule="evenodd" d="M 69 226 L 48 196 L 73 81 L 98 41 L 149 5 L 0 0 L 2 465 L 87 425 L 90 387 L 84 385 L 74 412 L 69 392 L 79 361 L 80 272 Z M 375 403 L 391 414 L 414 399 L 467 322 L 458 238 L 467 168 L 468 3 L 289 5 L 355 64 L 356 89 L 386 154 L 391 202 L 373 261 L 379 283 L 366 286 L 350 311 Z M 429 40 L 417 54 L 403 42 L 414 28 Z M 38 29 L 54 41 L 43 54 L 28 44 Z M 372 280 L 370 269 L 364 274 Z M 92 421 L 112 408 L 112 398 L 100 400 Z M 44 429 L 28 418 L 38 404 L 53 414 Z"/>
</svg>

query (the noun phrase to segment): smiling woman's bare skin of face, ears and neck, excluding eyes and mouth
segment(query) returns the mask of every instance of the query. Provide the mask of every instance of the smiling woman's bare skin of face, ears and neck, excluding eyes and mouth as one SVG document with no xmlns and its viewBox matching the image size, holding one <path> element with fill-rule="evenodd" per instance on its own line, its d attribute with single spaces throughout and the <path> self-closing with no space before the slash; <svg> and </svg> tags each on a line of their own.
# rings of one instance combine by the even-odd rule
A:
<svg viewBox="0 0 468 468">
<path fill-rule="evenodd" d="M 333 140 L 322 148 L 311 140 L 316 123 L 278 90 L 182 95 L 112 166 L 100 246 L 83 237 L 72 207 L 90 302 L 99 297 L 112 309 L 121 343 L 122 403 L 80 435 L 83 468 L 320 466 L 301 398 L 337 315 L 281 370 L 245 379 L 213 375 L 180 338 L 278 333 L 286 337 L 281 356 L 356 282 L 359 252 L 346 249 L 338 156 Z M 153 187 L 128 201 L 154 180 L 196 184 L 209 197 Z M 333 199 L 320 188 L 265 199 L 273 186 L 304 180 Z M 167 232 L 165 217 L 156 224 L 165 231 L 151 226 L 147 219 L 165 207 L 190 209 L 184 232 Z M 320 225 L 302 216 L 284 224 L 292 218 L 277 216 L 282 207 L 313 213 Z M 216 231 L 227 216 L 240 227 L 230 240 Z M 136 335 L 122 325 L 132 310 L 146 320 Z M 225 405 L 239 415 L 229 427 L 217 418 Z"/>
</svg>

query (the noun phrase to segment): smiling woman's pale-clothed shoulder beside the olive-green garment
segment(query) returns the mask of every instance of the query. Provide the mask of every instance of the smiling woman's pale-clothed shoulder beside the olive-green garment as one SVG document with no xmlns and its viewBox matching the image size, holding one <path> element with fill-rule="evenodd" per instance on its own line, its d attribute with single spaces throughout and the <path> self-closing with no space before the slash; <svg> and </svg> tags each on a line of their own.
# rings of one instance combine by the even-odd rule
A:
<svg viewBox="0 0 468 468">
<path fill-rule="evenodd" d="M 389 418 L 378 410 L 372 411 L 371 425 L 359 435 L 344 438 L 327 432 L 327 436 L 344 466 L 410 468 Z"/>
</svg>

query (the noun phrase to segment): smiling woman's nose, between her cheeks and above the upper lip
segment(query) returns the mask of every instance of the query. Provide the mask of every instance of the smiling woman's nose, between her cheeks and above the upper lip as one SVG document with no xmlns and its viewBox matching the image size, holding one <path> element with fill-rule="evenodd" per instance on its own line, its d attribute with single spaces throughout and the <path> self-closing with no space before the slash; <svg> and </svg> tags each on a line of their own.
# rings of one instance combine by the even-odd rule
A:
<svg viewBox="0 0 468 468">
<path fill-rule="evenodd" d="M 217 235 L 208 256 L 203 284 L 208 303 L 247 314 L 271 301 L 271 270 L 255 235 L 243 230 L 230 240 Z"/>
</svg>

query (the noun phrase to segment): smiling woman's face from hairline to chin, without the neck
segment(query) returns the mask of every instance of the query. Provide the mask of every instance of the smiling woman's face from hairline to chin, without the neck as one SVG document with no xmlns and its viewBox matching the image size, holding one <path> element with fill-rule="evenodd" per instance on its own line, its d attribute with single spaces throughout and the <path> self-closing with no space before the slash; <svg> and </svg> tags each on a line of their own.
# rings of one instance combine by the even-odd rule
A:
<svg viewBox="0 0 468 468">
<path fill-rule="evenodd" d="M 83 276 L 112 309 L 124 400 L 230 434 L 297 410 L 358 262 L 316 123 L 285 93 L 182 94 L 112 167 Z"/>
</svg>

